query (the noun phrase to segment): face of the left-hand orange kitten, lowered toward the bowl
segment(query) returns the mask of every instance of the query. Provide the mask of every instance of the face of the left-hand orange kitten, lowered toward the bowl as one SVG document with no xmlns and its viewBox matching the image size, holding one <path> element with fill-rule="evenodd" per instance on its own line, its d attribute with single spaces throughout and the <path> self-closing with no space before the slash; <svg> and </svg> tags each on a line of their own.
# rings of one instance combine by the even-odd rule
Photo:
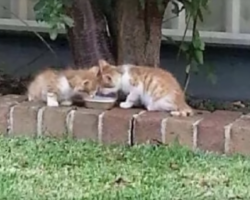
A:
<svg viewBox="0 0 250 200">
<path fill-rule="evenodd" d="M 99 90 L 97 73 L 99 67 L 92 67 L 87 71 L 77 74 L 74 84 L 74 92 L 83 96 L 94 97 Z"/>
</svg>

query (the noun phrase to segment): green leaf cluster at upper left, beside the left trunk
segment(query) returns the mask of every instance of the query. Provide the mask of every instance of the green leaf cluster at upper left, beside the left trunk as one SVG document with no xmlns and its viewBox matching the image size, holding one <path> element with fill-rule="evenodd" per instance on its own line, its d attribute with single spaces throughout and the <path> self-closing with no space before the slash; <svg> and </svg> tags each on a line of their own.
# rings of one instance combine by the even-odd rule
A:
<svg viewBox="0 0 250 200">
<path fill-rule="evenodd" d="M 36 20 L 46 22 L 50 27 L 50 37 L 56 39 L 58 32 L 65 26 L 72 27 L 73 20 L 66 15 L 65 6 L 71 6 L 71 0 L 39 0 L 35 6 Z"/>
</svg>

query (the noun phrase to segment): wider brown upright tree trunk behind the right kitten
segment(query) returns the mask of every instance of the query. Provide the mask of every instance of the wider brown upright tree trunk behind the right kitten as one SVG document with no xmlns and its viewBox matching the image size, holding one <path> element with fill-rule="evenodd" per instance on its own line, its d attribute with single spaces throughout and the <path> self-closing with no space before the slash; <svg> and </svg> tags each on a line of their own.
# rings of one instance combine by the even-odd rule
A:
<svg viewBox="0 0 250 200">
<path fill-rule="evenodd" d="M 159 66 L 161 26 L 169 0 L 163 0 L 161 9 L 156 0 L 116 1 L 116 44 L 118 64 Z"/>
</svg>

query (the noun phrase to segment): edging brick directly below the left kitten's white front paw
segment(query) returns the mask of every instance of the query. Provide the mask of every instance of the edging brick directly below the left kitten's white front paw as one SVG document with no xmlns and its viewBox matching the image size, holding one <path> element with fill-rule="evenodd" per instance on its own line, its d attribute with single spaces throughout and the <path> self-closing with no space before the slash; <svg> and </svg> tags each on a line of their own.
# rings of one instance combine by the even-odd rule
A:
<svg viewBox="0 0 250 200">
<path fill-rule="evenodd" d="M 68 134 L 67 114 L 71 107 L 46 107 L 43 112 L 42 132 L 45 136 L 63 137 Z"/>
</svg>

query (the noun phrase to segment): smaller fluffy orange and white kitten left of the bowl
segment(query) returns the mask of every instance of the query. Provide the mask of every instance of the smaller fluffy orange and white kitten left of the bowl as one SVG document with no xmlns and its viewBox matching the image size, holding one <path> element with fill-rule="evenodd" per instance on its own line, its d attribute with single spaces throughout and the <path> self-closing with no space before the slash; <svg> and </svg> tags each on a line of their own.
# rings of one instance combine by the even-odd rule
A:
<svg viewBox="0 0 250 200">
<path fill-rule="evenodd" d="M 46 69 L 28 87 L 28 100 L 44 101 L 47 106 L 72 105 L 77 94 L 94 96 L 97 92 L 98 67 L 90 69 Z"/>
</svg>

